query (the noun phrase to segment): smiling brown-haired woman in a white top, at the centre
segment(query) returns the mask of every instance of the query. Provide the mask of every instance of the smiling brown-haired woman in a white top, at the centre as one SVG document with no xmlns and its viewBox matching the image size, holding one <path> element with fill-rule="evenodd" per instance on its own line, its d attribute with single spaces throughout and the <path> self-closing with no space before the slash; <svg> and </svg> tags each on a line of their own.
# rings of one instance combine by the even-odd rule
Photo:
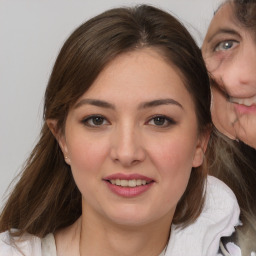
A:
<svg viewBox="0 0 256 256">
<path fill-rule="evenodd" d="M 81 25 L 44 118 L 1 214 L 1 256 L 213 256 L 238 224 L 234 194 L 207 177 L 208 74 L 170 14 L 143 5 Z"/>
</svg>

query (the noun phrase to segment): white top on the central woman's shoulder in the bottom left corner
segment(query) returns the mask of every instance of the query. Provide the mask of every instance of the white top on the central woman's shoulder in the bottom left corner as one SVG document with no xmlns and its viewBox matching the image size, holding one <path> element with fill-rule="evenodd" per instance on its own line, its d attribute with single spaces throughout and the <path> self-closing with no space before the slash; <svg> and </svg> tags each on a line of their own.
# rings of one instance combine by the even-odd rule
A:
<svg viewBox="0 0 256 256">
<path fill-rule="evenodd" d="M 9 231 L 0 233 L 1 256 L 56 256 L 56 246 L 52 234 L 41 239 L 25 233 L 12 236 Z"/>
</svg>

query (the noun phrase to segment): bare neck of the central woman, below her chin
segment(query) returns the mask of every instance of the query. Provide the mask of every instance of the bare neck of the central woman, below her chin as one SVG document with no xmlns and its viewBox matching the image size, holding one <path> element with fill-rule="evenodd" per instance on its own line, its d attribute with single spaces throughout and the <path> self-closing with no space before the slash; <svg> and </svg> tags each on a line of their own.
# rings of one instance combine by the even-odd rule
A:
<svg viewBox="0 0 256 256">
<path fill-rule="evenodd" d="M 171 220 L 167 216 L 164 221 L 131 227 L 83 214 L 80 225 L 80 256 L 146 256 L 159 255 L 164 250 Z"/>
</svg>

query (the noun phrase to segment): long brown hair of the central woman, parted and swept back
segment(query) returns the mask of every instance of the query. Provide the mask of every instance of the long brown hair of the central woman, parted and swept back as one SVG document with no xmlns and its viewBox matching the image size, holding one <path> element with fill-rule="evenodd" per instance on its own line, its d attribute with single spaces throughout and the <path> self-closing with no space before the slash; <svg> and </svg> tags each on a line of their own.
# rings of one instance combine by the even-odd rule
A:
<svg viewBox="0 0 256 256">
<path fill-rule="evenodd" d="M 151 6 L 106 11 L 77 28 L 63 45 L 45 93 L 44 120 L 64 131 L 69 109 L 116 56 L 151 47 L 179 70 L 194 100 L 199 132 L 211 123 L 210 88 L 201 52 L 170 14 Z M 206 169 L 195 168 L 173 222 L 185 226 L 200 214 Z M 81 214 L 81 194 L 70 167 L 46 123 L 38 144 L 7 201 L 0 231 L 16 228 L 45 236 L 72 224 Z"/>
</svg>

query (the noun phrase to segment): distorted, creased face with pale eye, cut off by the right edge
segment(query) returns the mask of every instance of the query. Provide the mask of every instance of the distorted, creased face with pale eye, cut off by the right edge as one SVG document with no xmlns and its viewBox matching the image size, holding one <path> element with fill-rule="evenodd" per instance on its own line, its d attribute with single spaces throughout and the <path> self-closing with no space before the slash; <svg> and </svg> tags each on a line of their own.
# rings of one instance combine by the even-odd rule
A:
<svg viewBox="0 0 256 256">
<path fill-rule="evenodd" d="M 213 82 L 212 117 L 228 137 L 256 147 L 256 37 L 224 4 L 215 14 L 202 47 Z"/>
</svg>

